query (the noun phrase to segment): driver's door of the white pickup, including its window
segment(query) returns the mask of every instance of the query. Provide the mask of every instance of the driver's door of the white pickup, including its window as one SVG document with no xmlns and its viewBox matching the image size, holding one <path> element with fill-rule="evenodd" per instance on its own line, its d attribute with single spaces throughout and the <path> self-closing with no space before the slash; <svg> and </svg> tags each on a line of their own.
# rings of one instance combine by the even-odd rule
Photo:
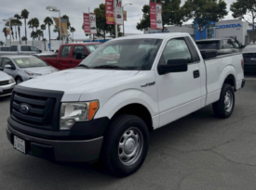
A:
<svg viewBox="0 0 256 190">
<path fill-rule="evenodd" d="M 189 48 L 191 45 L 194 44 L 187 37 L 170 39 L 158 62 L 158 65 L 167 65 L 169 59 L 185 58 L 188 61 L 188 70 L 184 72 L 161 75 L 156 71 L 160 127 L 201 108 L 200 61 L 195 55 L 195 47 Z"/>
</svg>

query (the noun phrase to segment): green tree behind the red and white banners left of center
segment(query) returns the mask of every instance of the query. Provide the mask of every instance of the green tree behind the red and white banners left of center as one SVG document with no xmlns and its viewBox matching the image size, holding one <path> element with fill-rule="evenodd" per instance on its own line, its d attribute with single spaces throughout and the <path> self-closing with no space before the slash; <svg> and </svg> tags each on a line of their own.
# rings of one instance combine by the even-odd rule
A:
<svg viewBox="0 0 256 190">
<path fill-rule="evenodd" d="M 105 4 L 101 4 L 99 7 L 94 9 L 94 13 L 96 15 L 96 25 L 97 25 L 97 36 L 102 37 L 104 42 L 106 40 L 106 35 L 109 33 L 112 37 L 115 38 L 115 25 L 107 24 L 106 22 L 106 12 L 105 12 Z M 82 25 L 84 30 L 84 25 Z M 118 26 L 118 36 L 122 36 L 122 32 L 120 32 L 120 26 Z"/>
</svg>

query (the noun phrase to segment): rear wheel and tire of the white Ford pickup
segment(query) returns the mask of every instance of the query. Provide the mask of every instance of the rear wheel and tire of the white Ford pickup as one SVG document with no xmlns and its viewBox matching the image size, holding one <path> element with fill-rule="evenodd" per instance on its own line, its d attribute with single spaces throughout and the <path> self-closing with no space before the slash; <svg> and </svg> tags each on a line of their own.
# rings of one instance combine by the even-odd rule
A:
<svg viewBox="0 0 256 190">
<path fill-rule="evenodd" d="M 224 83 L 220 100 L 212 104 L 213 112 L 219 118 L 227 119 L 232 115 L 235 103 L 236 98 L 234 88 L 230 84 Z"/>
</svg>

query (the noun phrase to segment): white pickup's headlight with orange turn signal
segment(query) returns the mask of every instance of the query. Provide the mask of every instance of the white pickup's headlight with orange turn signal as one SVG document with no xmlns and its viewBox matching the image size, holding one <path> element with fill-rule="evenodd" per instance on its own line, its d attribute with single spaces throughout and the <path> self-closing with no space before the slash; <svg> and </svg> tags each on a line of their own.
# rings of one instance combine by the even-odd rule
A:
<svg viewBox="0 0 256 190">
<path fill-rule="evenodd" d="M 62 103 L 60 129 L 70 130 L 76 121 L 92 120 L 98 108 L 98 101 Z"/>
</svg>

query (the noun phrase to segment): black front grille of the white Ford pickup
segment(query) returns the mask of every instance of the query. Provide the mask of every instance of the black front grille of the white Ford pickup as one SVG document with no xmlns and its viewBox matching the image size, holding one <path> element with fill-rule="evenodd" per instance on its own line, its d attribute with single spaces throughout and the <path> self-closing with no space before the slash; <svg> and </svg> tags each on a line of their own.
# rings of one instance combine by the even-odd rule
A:
<svg viewBox="0 0 256 190">
<path fill-rule="evenodd" d="M 11 98 L 11 118 L 29 127 L 57 130 L 61 104 L 58 93 L 56 96 L 36 90 L 26 92 L 17 86 Z M 28 111 L 22 111 L 21 106 L 26 106 Z"/>
</svg>

